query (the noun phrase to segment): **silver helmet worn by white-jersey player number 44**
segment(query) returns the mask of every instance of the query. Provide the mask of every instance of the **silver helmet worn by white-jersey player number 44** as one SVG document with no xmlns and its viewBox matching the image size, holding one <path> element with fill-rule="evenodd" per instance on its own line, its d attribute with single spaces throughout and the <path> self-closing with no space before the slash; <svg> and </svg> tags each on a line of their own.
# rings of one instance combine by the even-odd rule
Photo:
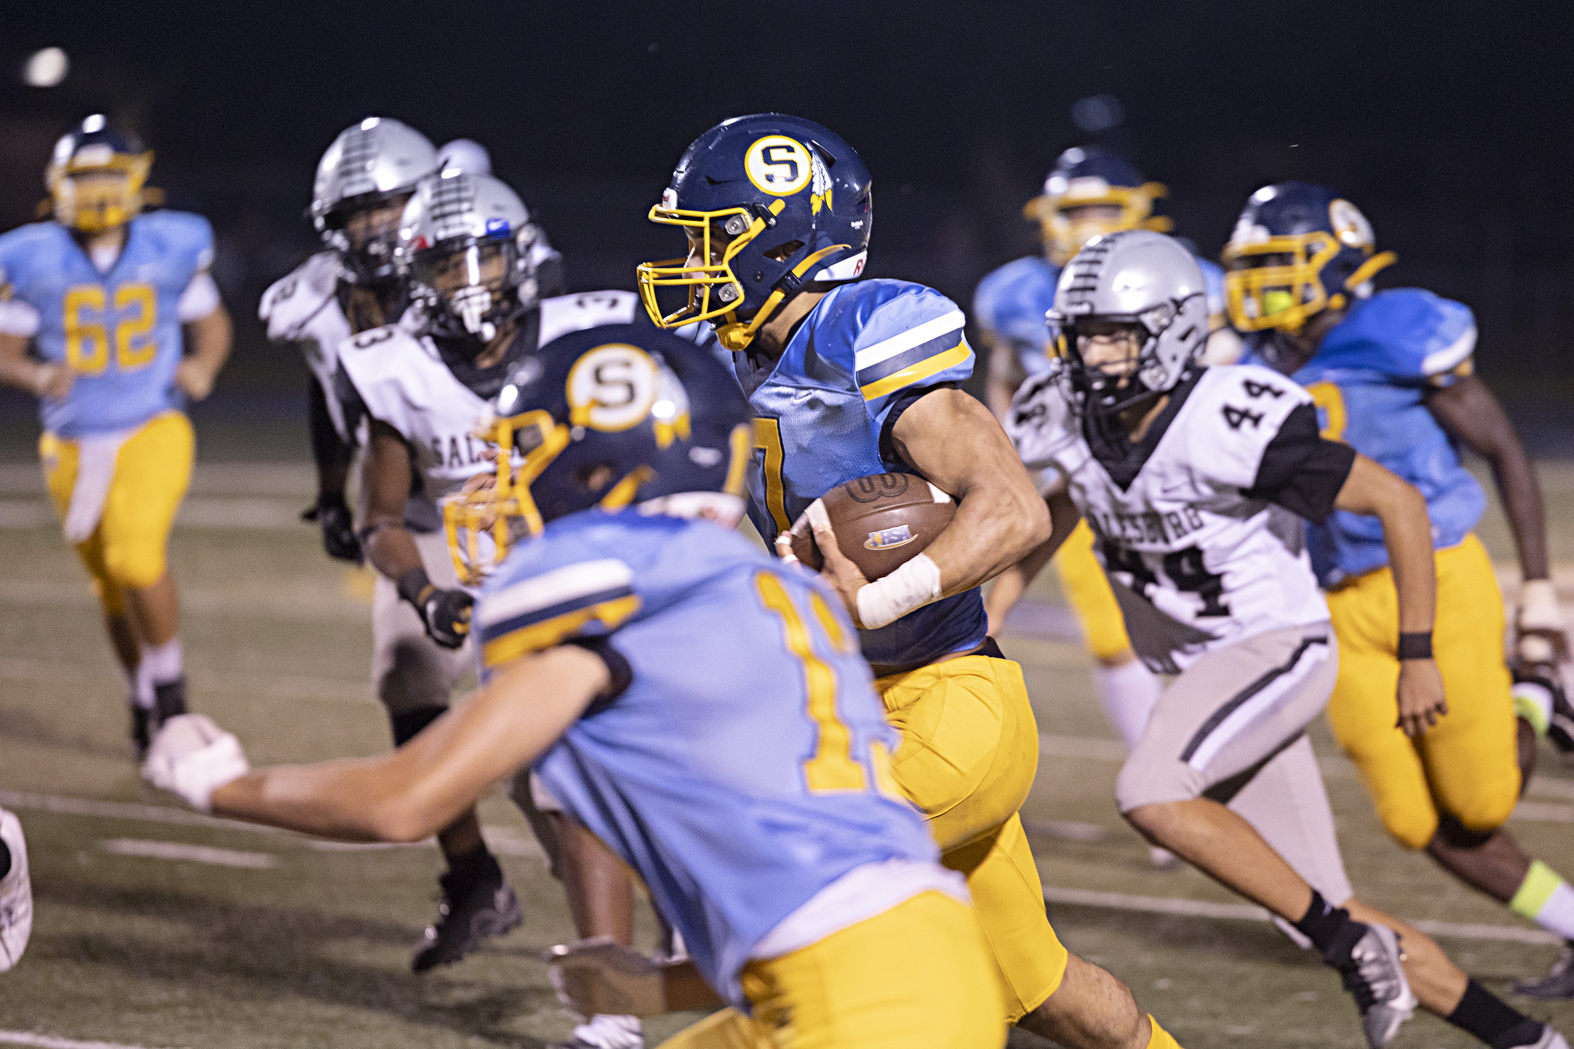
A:
<svg viewBox="0 0 1574 1049">
<path fill-rule="evenodd" d="M 1077 399 L 1089 410 L 1119 412 L 1173 388 L 1207 344 L 1203 269 L 1162 233 L 1099 236 L 1061 272 L 1045 319 Z M 1083 340 L 1122 326 L 1136 332 L 1136 355 L 1088 363 Z"/>
</svg>

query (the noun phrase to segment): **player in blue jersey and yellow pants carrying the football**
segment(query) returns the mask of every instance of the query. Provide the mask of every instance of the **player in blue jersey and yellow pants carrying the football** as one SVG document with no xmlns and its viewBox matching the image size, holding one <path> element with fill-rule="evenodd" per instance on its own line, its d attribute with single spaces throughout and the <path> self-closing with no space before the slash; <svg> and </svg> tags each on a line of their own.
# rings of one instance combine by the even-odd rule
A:
<svg viewBox="0 0 1574 1049">
<path fill-rule="evenodd" d="M 1037 546 L 1050 521 L 999 423 L 960 390 L 973 370 L 962 310 L 922 285 L 858 280 L 870 175 L 806 120 L 763 113 L 711 127 L 650 219 L 688 237 L 686 258 L 637 271 L 650 319 L 710 321 L 733 351 L 754 412 L 749 514 L 762 536 L 790 552 L 784 533 L 809 503 L 883 470 L 918 473 L 959 500 L 952 524 L 891 576 L 831 579 L 902 731 L 896 782 L 929 818 L 943 862 L 968 876 L 1007 1021 L 1062 1044 L 1173 1044 L 1114 977 L 1069 956 L 1044 911 L 1017 815 L 1037 771 L 1037 727 L 1022 668 L 987 635 L 977 588 Z M 688 293 L 677 311 L 663 311 L 664 288 Z"/>
</svg>

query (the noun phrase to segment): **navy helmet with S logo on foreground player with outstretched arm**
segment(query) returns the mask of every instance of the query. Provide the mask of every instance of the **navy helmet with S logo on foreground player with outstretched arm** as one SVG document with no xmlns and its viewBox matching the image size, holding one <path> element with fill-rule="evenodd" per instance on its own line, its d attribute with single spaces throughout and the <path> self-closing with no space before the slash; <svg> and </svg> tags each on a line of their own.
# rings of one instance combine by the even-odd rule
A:
<svg viewBox="0 0 1574 1049">
<path fill-rule="evenodd" d="M 552 340 L 515 368 L 483 421 L 499 448 L 494 481 L 444 503 L 460 577 L 480 582 L 510 543 L 593 506 L 737 524 L 749 415 L 721 362 L 671 332 L 606 324 Z"/>
</svg>

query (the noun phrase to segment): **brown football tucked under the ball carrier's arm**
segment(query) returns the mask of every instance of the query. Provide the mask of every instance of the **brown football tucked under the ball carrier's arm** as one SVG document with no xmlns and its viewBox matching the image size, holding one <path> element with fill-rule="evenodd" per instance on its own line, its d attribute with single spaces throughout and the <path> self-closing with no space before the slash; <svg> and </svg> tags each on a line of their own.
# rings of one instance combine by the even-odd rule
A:
<svg viewBox="0 0 1574 1049">
<path fill-rule="evenodd" d="M 820 571 L 825 558 L 809 528 L 814 506 L 823 506 L 836 544 L 864 572 L 864 579 L 889 576 L 918 557 L 957 514 L 957 503 L 913 473 L 870 473 L 837 484 L 792 525 L 792 552 Z"/>
</svg>

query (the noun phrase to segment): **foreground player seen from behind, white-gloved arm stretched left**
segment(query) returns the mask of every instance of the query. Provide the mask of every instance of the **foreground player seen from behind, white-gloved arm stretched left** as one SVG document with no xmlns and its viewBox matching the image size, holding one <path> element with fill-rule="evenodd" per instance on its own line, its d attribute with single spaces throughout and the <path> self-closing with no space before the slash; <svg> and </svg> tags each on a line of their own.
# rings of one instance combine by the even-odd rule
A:
<svg viewBox="0 0 1574 1049">
<path fill-rule="evenodd" d="M 475 605 L 482 692 L 392 755 L 253 772 L 187 717 L 150 778 L 228 816 L 414 841 L 534 764 L 644 878 L 708 985 L 647 967 L 630 980 L 642 1011 L 715 988 L 771 1044 L 1003 1046 L 988 950 L 896 793 L 897 734 L 853 624 L 735 532 L 737 384 L 648 326 L 575 332 L 516 368 L 493 432 L 519 466 L 504 461 L 493 514 L 535 538 Z"/>
</svg>

